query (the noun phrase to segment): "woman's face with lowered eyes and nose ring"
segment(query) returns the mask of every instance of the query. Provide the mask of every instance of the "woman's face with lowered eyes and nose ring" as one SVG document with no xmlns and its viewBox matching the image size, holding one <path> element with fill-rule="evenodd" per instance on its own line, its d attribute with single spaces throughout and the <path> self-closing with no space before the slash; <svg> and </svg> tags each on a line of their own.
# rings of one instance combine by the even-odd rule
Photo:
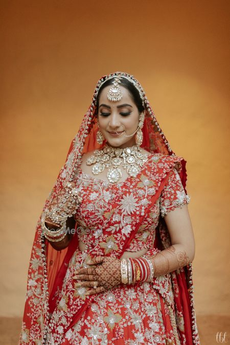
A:
<svg viewBox="0 0 230 345">
<path fill-rule="evenodd" d="M 130 135 L 138 127 L 139 110 L 137 109 L 129 91 L 119 86 L 123 97 L 121 101 L 113 102 L 107 99 L 107 92 L 111 85 L 106 86 L 100 95 L 98 108 L 98 122 L 100 130 L 108 145 L 112 147 L 125 148 L 135 145 L 135 134 Z M 117 134 L 117 133 L 118 134 Z"/>
</svg>

